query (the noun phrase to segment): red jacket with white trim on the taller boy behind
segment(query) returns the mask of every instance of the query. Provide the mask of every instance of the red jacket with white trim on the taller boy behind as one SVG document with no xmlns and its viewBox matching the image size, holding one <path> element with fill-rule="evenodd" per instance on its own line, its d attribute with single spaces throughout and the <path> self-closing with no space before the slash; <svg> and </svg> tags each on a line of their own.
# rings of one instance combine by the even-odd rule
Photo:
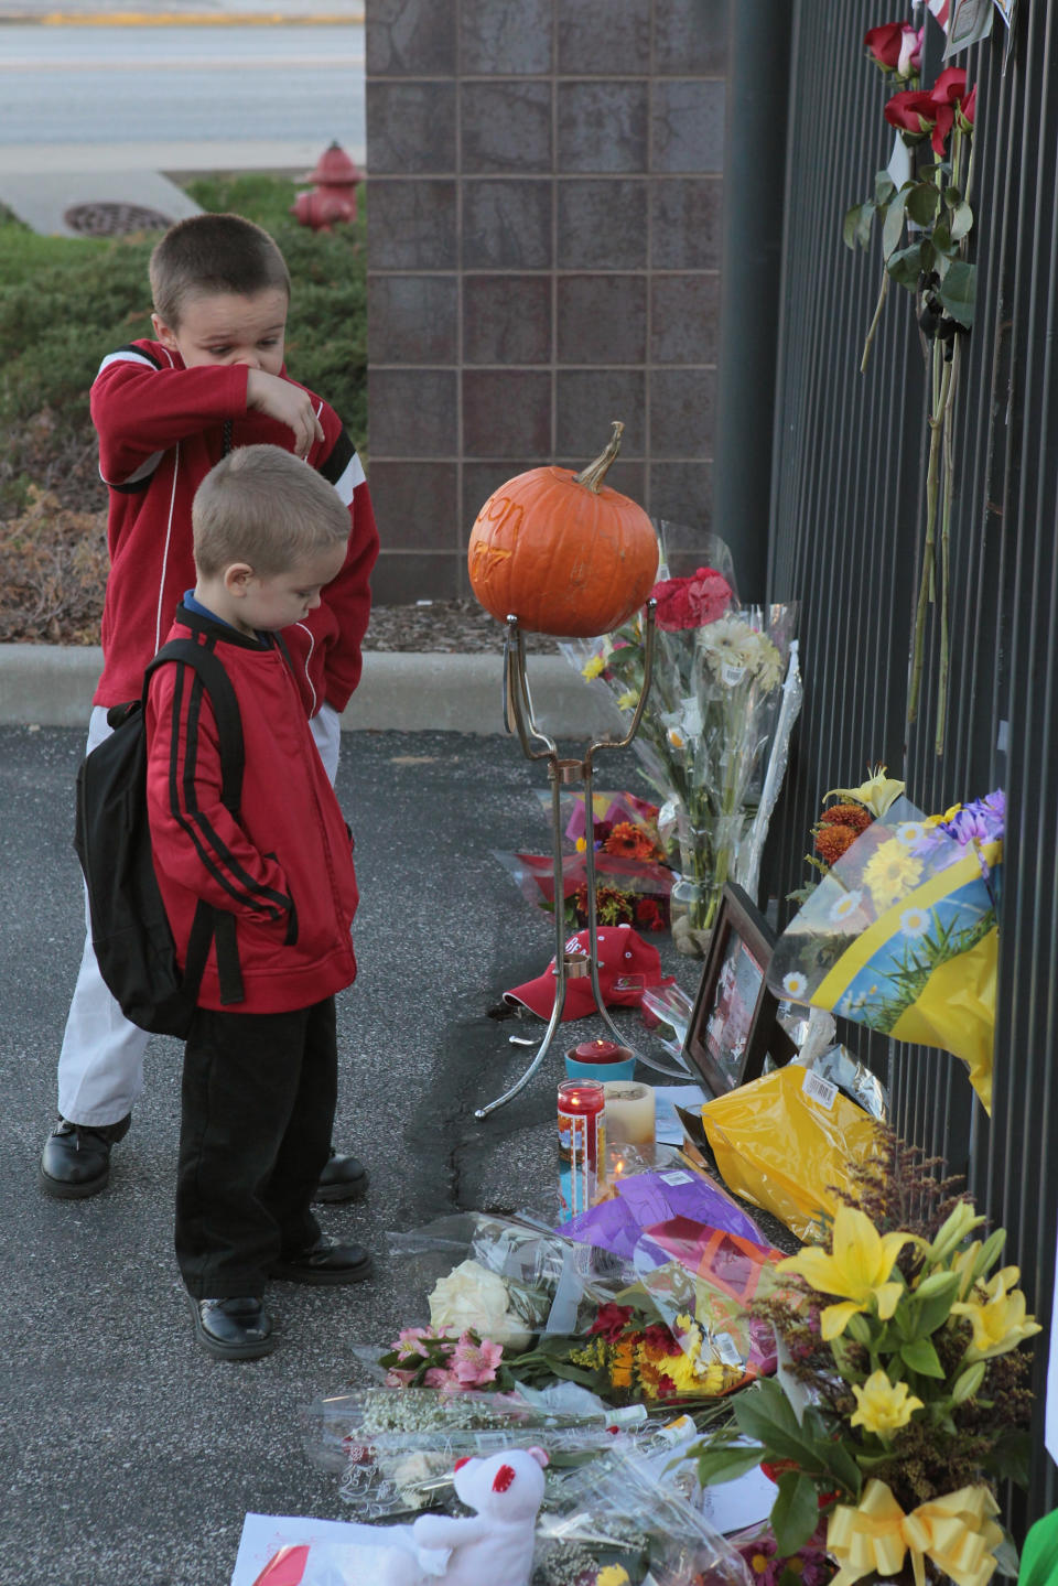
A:
<svg viewBox="0 0 1058 1586">
<path fill-rule="evenodd" d="M 290 450 L 290 430 L 247 411 L 244 365 L 184 368 L 157 341 L 133 341 L 103 358 L 92 385 L 100 474 L 109 485 L 106 536 L 111 571 L 103 604 L 103 676 L 94 704 L 136 699 L 184 590 L 195 584 L 190 504 L 230 446 L 268 442 Z M 292 382 L 297 384 L 297 382 Z M 305 387 L 301 387 L 305 390 Z M 308 462 L 349 508 L 346 565 L 305 622 L 284 633 L 305 709 L 324 699 L 344 711 L 360 680 L 368 626 L 368 577 L 379 550 L 363 468 L 338 414 L 309 392 L 324 427 Z"/>
</svg>

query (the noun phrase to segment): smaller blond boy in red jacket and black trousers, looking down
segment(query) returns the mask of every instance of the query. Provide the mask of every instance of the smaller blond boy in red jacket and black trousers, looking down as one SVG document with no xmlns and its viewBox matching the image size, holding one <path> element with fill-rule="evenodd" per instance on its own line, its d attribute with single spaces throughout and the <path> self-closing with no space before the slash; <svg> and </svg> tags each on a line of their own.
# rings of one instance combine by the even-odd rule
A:
<svg viewBox="0 0 1058 1586">
<path fill-rule="evenodd" d="M 182 963 L 205 899 L 235 920 L 241 1001 L 206 963 L 187 1037 L 176 1256 L 201 1347 L 220 1359 L 273 1348 L 270 1277 L 355 1283 L 358 1245 L 320 1237 L 309 1210 L 335 1117 L 335 993 L 355 979 L 357 882 L 349 833 L 274 634 L 320 606 L 346 560 L 333 488 L 274 446 L 233 450 L 195 495 L 197 582 L 168 639 L 211 649 L 243 720 L 243 796 L 220 799 L 208 691 L 179 661 L 151 679 L 148 817 L 154 868 Z"/>
</svg>

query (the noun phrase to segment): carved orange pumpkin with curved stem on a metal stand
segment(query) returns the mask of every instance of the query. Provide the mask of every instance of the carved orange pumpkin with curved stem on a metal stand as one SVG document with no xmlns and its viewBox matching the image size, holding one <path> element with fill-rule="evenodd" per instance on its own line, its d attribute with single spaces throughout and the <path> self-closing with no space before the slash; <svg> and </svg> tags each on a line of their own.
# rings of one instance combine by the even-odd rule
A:
<svg viewBox="0 0 1058 1586">
<path fill-rule="evenodd" d="M 650 519 L 603 484 L 623 423 L 582 473 L 530 468 L 482 506 L 470 536 L 470 585 L 498 622 L 530 633 L 593 638 L 642 606 L 658 573 Z"/>
</svg>

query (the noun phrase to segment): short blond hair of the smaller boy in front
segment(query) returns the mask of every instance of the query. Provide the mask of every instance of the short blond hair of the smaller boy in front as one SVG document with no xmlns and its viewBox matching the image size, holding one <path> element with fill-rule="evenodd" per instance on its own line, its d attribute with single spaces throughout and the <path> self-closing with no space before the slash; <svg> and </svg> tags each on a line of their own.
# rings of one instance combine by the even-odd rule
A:
<svg viewBox="0 0 1058 1586">
<path fill-rule="evenodd" d="M 322 474 L 281 446 L 240 446 L 222 457 L 190 509 L 195 566 L 217 577 L 244 561 L 276 577 L 349 539 L 349 511 Z"/>
</svg>

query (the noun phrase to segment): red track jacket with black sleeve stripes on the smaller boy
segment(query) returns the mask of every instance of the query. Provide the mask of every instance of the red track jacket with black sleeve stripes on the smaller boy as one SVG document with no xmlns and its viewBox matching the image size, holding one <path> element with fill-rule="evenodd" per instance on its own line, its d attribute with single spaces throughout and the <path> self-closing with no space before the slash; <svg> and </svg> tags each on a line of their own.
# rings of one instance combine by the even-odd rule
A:
<svg viewBox="0 0 1058 1586">
<path fill-rule="evenodd" d="M 273 642 L 179 607 L 163 639 L 213 647 L 243 717 L 238 820 L 220 801 L 220 749 L 209 695 L 179 661 L 148 695 L 148 817 L 154 869 L 184 964 L 200 898 L 235 915 L 246 998 L 233 1013 L 284 1013 L 352 983 L 357 909 L 352 845 L 312 742 L 297 682 Z M 209 950 L 200 1007 L 220 1009 Z"/>
</svg>

